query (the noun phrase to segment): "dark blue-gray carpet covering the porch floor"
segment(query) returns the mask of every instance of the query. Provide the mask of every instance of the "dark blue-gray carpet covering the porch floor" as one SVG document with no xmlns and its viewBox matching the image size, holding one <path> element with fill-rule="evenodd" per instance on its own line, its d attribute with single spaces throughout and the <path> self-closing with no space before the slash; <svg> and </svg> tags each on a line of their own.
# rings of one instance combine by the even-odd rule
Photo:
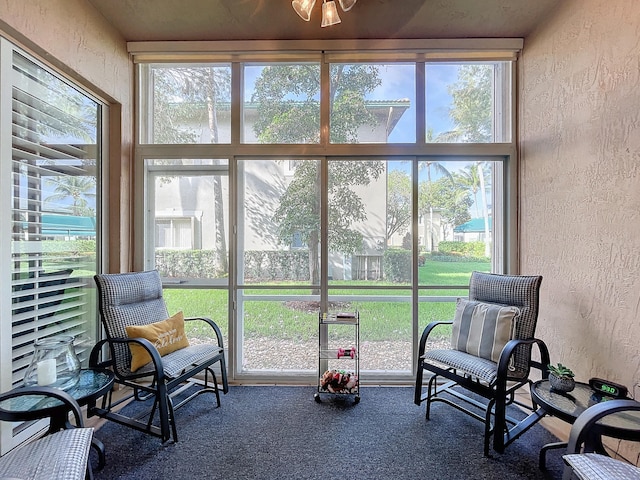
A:
<svg viewBox="0 0 640 480">
<path fill-rule="evenodd" d="M 200 395 L 176 413 L 178 442 L 108 422 L 96 432 L 107 465 L 101 479 L 559 479 L 561 450 L 540 425 L 504 454 L 482 455 L 483 427 L 444 405 L 413 404 L 408 387 L 362 387 L 361 400 L 314 387 L 232 386 L 215 408 Z M 133 405 L 125 407 L 136 408 Z M 92 453 L 92 455 L 94 455 Z M 92 458 L 95 465 L 95 457 Z"/>
</svg>

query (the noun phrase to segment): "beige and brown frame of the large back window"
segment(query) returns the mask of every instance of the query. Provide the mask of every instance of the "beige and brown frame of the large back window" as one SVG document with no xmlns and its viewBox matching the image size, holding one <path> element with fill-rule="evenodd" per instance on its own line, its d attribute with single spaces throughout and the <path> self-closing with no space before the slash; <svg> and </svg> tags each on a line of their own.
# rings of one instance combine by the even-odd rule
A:
<svg viewBox="0 0 640 480">
<path fill-rule="evenodd" d="M 230 235 L 229 244 L 231 248 L 229 264 L 229 369 L 233 379 L 242 378 L 251 381 L 252 379 L 274 379 L 276 377 L 252 377 L 238 376 L 241 369 L 241 329 L 239 325 L 234 325 L 235 300 L 238 290 L 246 288 L 242 285 L 241 279 L 234 276 L 231 270 L 237 265 L 237 235 L 242 231 L 242 226 L 237 224 L 237 202 L 238 184 L 236 176 L 238 172 L 237 162 L 244 159 L 255 158 L 290 158 L 313 159 L 327 158 L 334 159 L 340 157 L 413 157 L 421 159 L 425 157 L 473 157 L 487 159 L 502 159 L 503 169 L 494 178 L 495 185 L 503 186 L 493 192 L 493 201 L 503 204 L 503 221 L 493 226 L 494 238 L 501 238 L 499 245 L 500 254 L 494 258 L 500 258 L 500 262 L 493 265 L 493 271 L 502 273 L 517 273 L 517 222 L 516 222 L 516 198 L 517 198 L 517 147 L 515 143 L 515 118 L 516 118 L 516 92 L 515 78 L 517 68 L 517 57 L 521 51 L 523 42 L 521 39 L 463 39 L 463 40 L 416 40 L 416 41 L 283 41 L 269 43 L 268 47 L 261 42 L 190 42 L 189 50 L 183 46 L 171 42 L 156 42 L 152 45 L 144 42 L 132 42 L 128 48 L 134 57 L 134 62 L 138 64 L 164 62 L 232 62 L 232 105 L 231 105 L 231 143 L 230 144 L 194 144 L 194 145 L 136 145 L 135 169 L 136 178 L 144 178 L 143 163 L 150 158 L 229 158 L 229 191 L 230 191 L 230 212 L 233 224 L 233 233 Z M 292 61 L 314 61 L 321 60 L 321 137 L 319 144 L 246 144 L 242 142 L 242 98 L 243 98 L 243 78 L 242 64 L 247 62 L 292 62 Z M 511 68 L 508 72 L 502 72 L 505 78 L 509 79 L 510 88 L 505 94 L 511 95 L 511 111 L 503 116 L 501 121 L 508 122 L 511 141 L 496 143 L 427 143 L 426 142 L 426 118 L 425 118 L 425 62 L 482 62 L 482 61 L 507 61 Z M 416 141 L 410 144 L 331 144 L 329 142 L 329 78 L 330 62 L 364 62 L 364 63 L 416 63 Z M 142 75 L 140 75 L 142 77 Z M 144 82 L 139 82 L 139 86 Z M 138 95 L 142 98 L 143 95 Z M 146 118 L 146 112 L 142 112 L 143 104 L 137 105 L 138 118 Z M 417 167 L 415 167 L 417 169 Z M 417 171 L 416 171 L 417 173 Z M 417 178 L 417 177 L 416 177 Z M 135 188 L 136 195 L 136 225 L 145 225 L 144 209 L 146 193 L 144 188 Z M 417 194 L 416 194 L 417 195 Z M 325 200 L 326 201 L 326 198 Z M 414 199 L 414 204 L 416 199 Z M 496 203 L 494 203 L 496 205 Z M 417 211 L 413 213 L 416 218 Z M 135 227 L 134 227 L 135 228 Z M 414 221 L 413 230 L 417 230 L 417 220 Z M 140 267 L 144 258 L 144 241 L 142 236 L 135 236 L 136 243 L 136 267 Z M 326 243 L 326 242 L 325 242 Z M 497 242 L 494 243 L 494 247 Z M 418 251 L 418 236 L 414 235 L 414 252 Z M 417 254 L 417 253 L 416 253 Z M 416 255 L 414 254 L 414 255 Z M 417 262 L 414 262 L 415 270 L 413 278 L 417 279 Z M 325 274 L 326 276 L 326 274 Z M 321 289 L 324 290 L 323 301 L 326 301 L 327 283 Z M 193 284 L 198 288 L 197 284 Z M 167 285 L 171 288 L 171 285 Z M 200 288 L 206 285 L 200 285 Z M 176 287 L 177 288 L 177 287 Z M 419 301 L 420 288 L 417 281 L 413 283 L 411 296 L 412 301 Z M 330 294 L 329 294 L 330 295 Z M 431 297 L 438 300 L 438 297 Z M 417 322 L 417 311 L 413 313 L 413 342 L 414 349 L 417 346 L 419 333 Z M 414 367 L 415 369 L 415 359 Z M 281 379 L 281 378 L 280 378 Z M 380 377 L 381 381 L 393 382 L 392 377 Z M 301 377 L 293 381 L 308 382 L 309 378 Z M 406 379 L 403 379 L 406 381 Z"/>
</svg>

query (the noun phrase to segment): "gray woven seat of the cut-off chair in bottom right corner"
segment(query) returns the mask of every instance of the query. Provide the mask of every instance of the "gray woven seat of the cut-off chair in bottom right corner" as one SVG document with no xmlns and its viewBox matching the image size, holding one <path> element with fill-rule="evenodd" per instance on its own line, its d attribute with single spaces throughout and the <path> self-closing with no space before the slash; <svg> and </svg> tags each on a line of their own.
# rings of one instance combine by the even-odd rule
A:
<svg viewBox="0 0 640 480">
<path fill-rule="evenodd" d="M 640 480 L 640 468 L 597 453 L 562 457 L 580 480 Z"/>
</svg>

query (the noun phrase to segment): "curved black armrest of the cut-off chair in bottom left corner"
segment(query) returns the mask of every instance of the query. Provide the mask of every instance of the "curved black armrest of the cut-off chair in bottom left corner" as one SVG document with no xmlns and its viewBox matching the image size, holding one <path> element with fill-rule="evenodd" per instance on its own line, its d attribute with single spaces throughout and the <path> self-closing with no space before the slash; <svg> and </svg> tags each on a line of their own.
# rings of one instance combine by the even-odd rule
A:
<svg viewBox="0 0 640 480">
<path fill-rule="evenodd" d="M 9 400 L 11 398 L 19 398 L 24 396 L 43 396 L 46 398 L 53 398 L 60 403 L 53 403 L 47 405 L 45 401 L 40 401 L 33 405 L 33 409 L 29 409 L 28 406 L 24 410 L 12 409 L 7 410 L 0 407 L 0 420 L 8 422 L 27 422 L 31 420 L 37 420 L 40 418 L 50 418 L 52 415 L 59 415 L 61 409 L 66 412 L 72 412 L 75 420 L 75 426 L 84 427 L 84 420 L 82 418 L 82 410 L 78 402 L 64 390 L 53 387 L 33 386 L 33 387 L 19 387 L 8 392 L 0 394 L 0 402 Z M 42 405 L 42 408 L 38 407 Z"/>
</svg>

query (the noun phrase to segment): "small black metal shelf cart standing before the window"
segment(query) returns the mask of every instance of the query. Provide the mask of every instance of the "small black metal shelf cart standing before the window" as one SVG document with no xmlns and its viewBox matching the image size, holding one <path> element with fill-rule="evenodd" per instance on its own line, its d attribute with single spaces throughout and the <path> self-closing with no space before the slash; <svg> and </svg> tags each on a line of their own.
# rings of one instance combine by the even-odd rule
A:
<svg viewBox="0 0 640 480">
<path fill-rule="evenodd" d="M 345 332 L 348 328 L 353 332 Z M 345 344 L 345 339 L 351 342 Z M 321 312 L 318 316 L 316 402 L 322 401 L 321 394 L 352 396 L 355 403 L 360 401 L 360 314 L 357 311 Z"/>
</svg>

